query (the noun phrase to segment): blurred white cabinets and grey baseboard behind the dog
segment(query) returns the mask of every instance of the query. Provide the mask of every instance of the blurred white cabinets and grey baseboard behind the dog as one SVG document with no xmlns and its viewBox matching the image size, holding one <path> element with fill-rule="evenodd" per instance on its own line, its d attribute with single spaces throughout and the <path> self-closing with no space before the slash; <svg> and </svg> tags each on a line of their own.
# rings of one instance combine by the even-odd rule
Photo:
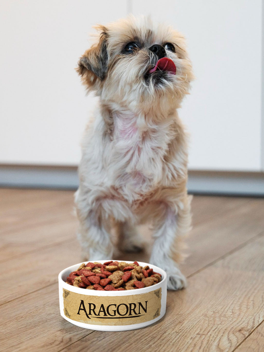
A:
<svg viewBox="0 0 264 352">
<path fill-rule="evenodd" d="M 95 24 L 150 15 L 184 34 L 196 81 L 179 111 L 190 193 L 264 195 L 262 0 L 1 0 L 0 185 L 78 185 L 96 98 L 74 68 Z"/>
</svg>

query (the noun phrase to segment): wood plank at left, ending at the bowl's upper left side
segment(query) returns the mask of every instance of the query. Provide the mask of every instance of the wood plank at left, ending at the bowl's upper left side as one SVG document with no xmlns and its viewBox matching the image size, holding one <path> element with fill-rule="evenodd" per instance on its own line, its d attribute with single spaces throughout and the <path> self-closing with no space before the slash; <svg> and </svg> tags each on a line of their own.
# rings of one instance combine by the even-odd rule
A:
<svg viewBox="0 0 264 352">
<path fill-rule="evenodd" d="M 57 282 L 61 270 L 81 262 L 77 240 L 45 247 L 0 264 L 0 304 Z"/>
</svg>

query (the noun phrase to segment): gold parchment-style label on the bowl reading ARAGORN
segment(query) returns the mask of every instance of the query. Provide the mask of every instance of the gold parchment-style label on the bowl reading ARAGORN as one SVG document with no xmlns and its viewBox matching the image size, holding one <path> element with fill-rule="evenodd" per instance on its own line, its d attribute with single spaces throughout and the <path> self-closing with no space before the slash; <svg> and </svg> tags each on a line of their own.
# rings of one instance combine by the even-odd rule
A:
<svg viewBox="0 0 264 352">
<path fill-rule="evenodd" d="M 161 313 L 161 287 L 129 296 L 88 296 L 63 289 L 64 315 L 95 325 L 130 325 L 157 318 Z"/>
</svg>

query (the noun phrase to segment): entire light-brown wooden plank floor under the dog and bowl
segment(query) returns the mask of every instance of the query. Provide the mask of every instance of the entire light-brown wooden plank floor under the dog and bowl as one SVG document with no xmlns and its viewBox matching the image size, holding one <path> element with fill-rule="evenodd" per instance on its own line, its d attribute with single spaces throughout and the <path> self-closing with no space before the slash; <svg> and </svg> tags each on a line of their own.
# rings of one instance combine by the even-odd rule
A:
<svg viewBox="0 0 264 352">
<path fill-rule="evenodd" d="M 59 315 L 57 275 L 81 261 L 73 192 L 0 189 L 0 351 L 263 352 L 264 199 L 195 196 L 192 208 L 187 289 L 168 292 L 155 325 L 99 332 Z"/>
</svg>

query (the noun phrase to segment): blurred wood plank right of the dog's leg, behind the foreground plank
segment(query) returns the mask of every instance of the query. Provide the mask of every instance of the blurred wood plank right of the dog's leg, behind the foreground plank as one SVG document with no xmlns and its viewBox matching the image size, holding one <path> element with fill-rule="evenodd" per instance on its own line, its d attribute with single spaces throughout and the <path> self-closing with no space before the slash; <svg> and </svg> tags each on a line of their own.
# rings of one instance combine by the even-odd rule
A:
<svg viewBox="0 0 264 352">
<path fill-rule="evenodd" d="M 197 225 L 186 239 L 189 256 L 181 268 L 186 276 L 234 250 L 263 231 L 264 199 L 244 205 Z"/>
</svg>

